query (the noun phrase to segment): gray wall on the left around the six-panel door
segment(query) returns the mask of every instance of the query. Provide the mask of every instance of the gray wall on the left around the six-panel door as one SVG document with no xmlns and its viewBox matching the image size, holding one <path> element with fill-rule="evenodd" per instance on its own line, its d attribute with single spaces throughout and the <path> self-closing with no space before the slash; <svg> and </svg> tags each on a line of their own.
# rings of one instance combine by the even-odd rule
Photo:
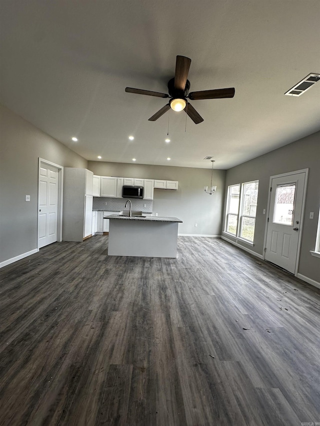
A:
<svg viewBox="0 0 320 426">
<path fill-rule="evenodd" d="M 38 157 L 65 167 L 87 161 L 0 105 L 0 262 L 37 248 Z M 25 202 L 25 195 L 30 202 Z"/>
</svg>

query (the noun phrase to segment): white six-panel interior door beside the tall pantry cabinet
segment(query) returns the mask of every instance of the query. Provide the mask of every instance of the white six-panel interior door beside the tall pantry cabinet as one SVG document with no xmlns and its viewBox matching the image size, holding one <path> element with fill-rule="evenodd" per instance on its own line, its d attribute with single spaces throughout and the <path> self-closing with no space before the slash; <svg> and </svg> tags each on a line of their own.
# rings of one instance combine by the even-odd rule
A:
<svg viewBox="0 0 320 426">
<path fill-rule="evenodd" d="M 40 162 L 38 248 L 57 241 L 59 169 Z"/>
</svg>

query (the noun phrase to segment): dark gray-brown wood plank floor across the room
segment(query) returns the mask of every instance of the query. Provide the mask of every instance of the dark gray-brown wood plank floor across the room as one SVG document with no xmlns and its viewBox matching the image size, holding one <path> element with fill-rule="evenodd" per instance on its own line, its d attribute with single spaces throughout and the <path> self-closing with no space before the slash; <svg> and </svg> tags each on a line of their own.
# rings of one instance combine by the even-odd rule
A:
<svg viewBox="0 0 320 426">
<path fill-rule="evenodd" d="M 320 422 L 320 290 L 220 239 L 107 241 L 0 270 L 1 426 Z"/>
</svg>

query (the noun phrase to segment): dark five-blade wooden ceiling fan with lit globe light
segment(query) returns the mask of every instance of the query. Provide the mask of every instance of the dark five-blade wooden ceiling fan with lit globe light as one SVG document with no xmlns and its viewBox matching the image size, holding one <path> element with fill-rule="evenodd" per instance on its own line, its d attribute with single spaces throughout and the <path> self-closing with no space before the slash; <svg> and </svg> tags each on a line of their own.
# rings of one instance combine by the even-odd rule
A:
<svg viewBox="0 0 320 426">
<path fill-rule="evenodd" d="M 191 118 L 195 123 L 201 123 L 203 118 L 201 115 L 193 108 L 193 106 L 186 100 L 189 98 L 191 100 L 197 99 L 220 99 L 234 96 L 234 87 L 229 87 L 226 89 L 213 89 L 213 90 L 200 90 L 198 92 L 190 92 L 190 81 L 187 79 L 191 59 L 186 56 L 176 56 L 175 61 L 175 74 L 174 77 L 168 81 L 168 92 L 160 93 L 153 92 L 150 90 L 134 89 L 133 87 L 125 87 L 125 91 L 128 93 L 137 93 L 139 95 L 147 96 L 157 96 L 167 98 L 170 97 L 169 103 L 162 106 L 152 117 L 149 118 L 149 121 L 155 121 L 166 111 L 172 108 L 174 111 L 186 112 L 186 114 Z"/>
</svg>

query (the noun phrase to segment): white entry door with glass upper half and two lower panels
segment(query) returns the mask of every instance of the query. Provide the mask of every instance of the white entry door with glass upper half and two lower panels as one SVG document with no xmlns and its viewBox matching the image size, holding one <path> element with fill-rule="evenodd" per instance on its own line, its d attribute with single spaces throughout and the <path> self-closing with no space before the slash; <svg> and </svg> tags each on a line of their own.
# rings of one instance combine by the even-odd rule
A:
<svg viewBox="0 0 320 426">
<path fill-rule="evenodd" d="M 297 262 L 305 174 L 271 179 L 264 259 L 292 274 Z"/>
</svg>

